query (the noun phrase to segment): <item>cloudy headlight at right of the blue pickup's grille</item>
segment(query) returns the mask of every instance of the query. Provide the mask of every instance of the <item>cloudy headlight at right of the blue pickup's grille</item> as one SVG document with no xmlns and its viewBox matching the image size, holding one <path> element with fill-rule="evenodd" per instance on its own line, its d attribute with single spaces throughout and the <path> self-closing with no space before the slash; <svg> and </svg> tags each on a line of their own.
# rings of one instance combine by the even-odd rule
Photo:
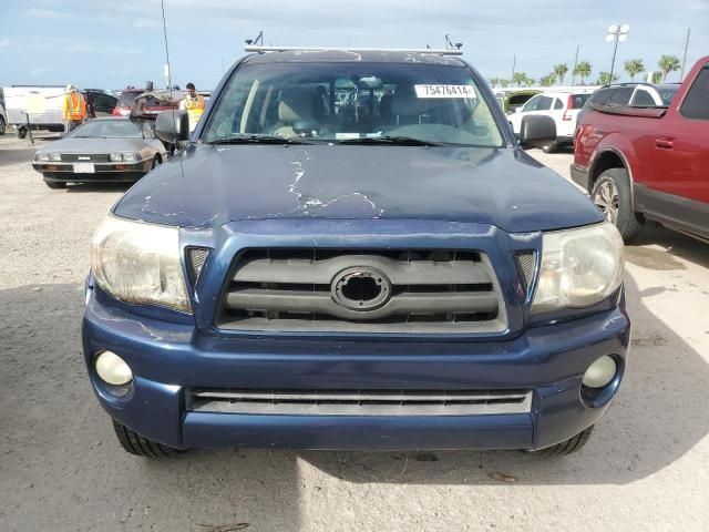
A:
<svg viewBox="0 0 709 532">
<path fill-rule="evenodd" d="M 588 307 L 623 282 L 623 238 L 613 224 L 545 233 L 532 313 Z"/>
</svg>

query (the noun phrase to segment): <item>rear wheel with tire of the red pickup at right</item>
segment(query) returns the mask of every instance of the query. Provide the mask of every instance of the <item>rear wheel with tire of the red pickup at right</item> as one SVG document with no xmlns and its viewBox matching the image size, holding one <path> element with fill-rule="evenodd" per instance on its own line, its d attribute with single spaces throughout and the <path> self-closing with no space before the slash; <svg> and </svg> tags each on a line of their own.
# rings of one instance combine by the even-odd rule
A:
<svg viewBox="0 0 709 532">
<path fill-rule="evenodd" d="M 590 200 L 613 223 L 626 243 L 633 242 L 643 229 L 643 215 L 633 211 L 633 191 L 625 168 L 606 170 L 594 183 Z"/>
</svg>

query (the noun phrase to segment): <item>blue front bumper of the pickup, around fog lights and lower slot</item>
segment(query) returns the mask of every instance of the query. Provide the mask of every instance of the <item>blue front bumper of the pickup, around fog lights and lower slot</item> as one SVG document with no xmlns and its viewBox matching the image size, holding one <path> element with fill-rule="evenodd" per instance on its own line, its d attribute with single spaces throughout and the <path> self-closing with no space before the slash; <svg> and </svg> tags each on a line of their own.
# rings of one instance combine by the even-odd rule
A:
<svg viewBox="0 0 709 532">
<path fill-rule="evenodd" d="M 328 450 L 540 449 L 595 423 L 619 385 L 629 320 L 618 307 L 531 328 L 504 341 L 239 338 L 136 316 L 100 290 L 83 320 L 84 358 L 110 416 L 174 448 Z M 95 375 L 95 354 L 120 355 L 135 376 L 123 398 Z M 613 354 L 619 374 L 607 400 L 587 406 L 580 379 Z M 528 413 L 486 416 L 273 416 L 189 411 L 191 388 L 258 390 L 533 391 Z"/>
</svg>

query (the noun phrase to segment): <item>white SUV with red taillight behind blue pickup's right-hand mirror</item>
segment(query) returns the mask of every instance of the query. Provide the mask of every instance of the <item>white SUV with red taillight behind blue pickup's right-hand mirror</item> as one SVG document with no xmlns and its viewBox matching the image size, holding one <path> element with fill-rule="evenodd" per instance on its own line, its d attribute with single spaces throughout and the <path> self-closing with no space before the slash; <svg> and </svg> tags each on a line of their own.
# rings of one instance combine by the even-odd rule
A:
<svg viewBox="0 0 709 532">
<path fill-rule="evenodd" d="M 543 150 L 548 153 L 557 145 L 573 144 L 576 116 L 586 100 L 590 98 L 593 91 L 593 89 L 578 89 L 574 92 L 549 91 L 533 96 L 522 108 L 518 108 L 513 115 L 508 116 L 514 134 L 520 135 L 522 119 L 525 116 L 544 115 L 554 120 L 556 141 L 545 144 Z"/>
</svg>

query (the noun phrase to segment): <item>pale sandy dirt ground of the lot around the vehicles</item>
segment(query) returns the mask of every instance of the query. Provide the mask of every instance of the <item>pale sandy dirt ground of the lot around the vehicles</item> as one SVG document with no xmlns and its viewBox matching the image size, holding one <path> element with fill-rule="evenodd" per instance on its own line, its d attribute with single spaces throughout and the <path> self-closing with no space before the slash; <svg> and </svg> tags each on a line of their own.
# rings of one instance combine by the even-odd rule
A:
<svg viewBox="0 0 709 532">
<path fill-rule="evenodd" d="M 568 172 L 571 154 L 533 154 Z M 631 360 L 577 456 L 147 461 L 114 441 L 80 355 L 90 235 L 125 188 L 51 191 L 32 155 L 29 141 L 0 137 L 0 531 L 706 530 L 709 245 L 653 228 L 627 248 Z"/>
</svg>

